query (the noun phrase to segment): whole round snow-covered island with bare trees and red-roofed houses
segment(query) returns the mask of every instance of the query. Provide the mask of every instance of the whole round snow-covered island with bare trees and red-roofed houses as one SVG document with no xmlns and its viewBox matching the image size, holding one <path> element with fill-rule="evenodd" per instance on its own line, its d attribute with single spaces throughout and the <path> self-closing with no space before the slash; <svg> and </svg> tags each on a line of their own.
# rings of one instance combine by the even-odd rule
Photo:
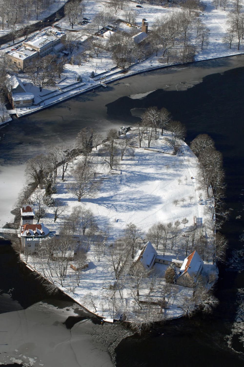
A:
<svg viewBox="0 0 244 367">
<path fill-rule="evenodd" d="M 99 145 L 87 134 L 77 137 L 83 154 L 66 151 L 61 161 L 54 149 L 52 175 L 29 199 L 23 194 L 21 260 L 106 320 L 140 328 L 211 308 L 214 201 L 197 157 L 176 132 L 159 128 L 111 130 Z M 40 179 L 44 161 L 28 164 Z"/>
</svg>

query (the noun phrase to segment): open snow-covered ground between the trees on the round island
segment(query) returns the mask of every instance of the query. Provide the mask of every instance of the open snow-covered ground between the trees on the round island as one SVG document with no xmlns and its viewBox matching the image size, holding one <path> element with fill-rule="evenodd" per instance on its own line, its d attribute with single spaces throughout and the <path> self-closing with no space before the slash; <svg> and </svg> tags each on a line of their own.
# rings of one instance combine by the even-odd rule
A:
<svg viewBox="0 0 244 367">
<path fill-rule="evenodd" d="M 134 133 L 135 130 L 130 132 L 132 137 L 134 137 Z M 160 131 L 158 131 L 158 136 L 159 139 L 152 144 L 151 148 L 146 148 L 146 142 L 143 143 L 142 148 L 134 148 L 134 154 L 125 156 L 122 161 L 118 162 L 112 172 L 114 174 L 110 173 L 109 165 L 104 162 L 99 150 L 94 149 L 94 177 L 95 179 L 99 177 L 99 188 L 94 197 L 84 197 L 80 203 L 77 201 L 77 197 L 74 197 L 68 190 L 68 184 L 73 179 L 70 173 L 72 167 L 82 157 L 75 159 L 68 168 L 65 181 L 62 182 L 60 176 L 58 177 L 57 193 L 52 195 L 55 199 L 66 204 L 65 215 L 54 223 L 52 208 L 47 208 L 47 217 L 42 220 L 50 230 L 56 230 L 59 233 L 65 217 L 71 213 L 72 209 L 84 206 L 93 212 L 98 231 L 106 233 L 105 247 L 100 252 L 99 257 L 96 244 L 90 245 L 87 252 L 88 268 L 81 273 L 79 287 L 76 285 L 72 269 L 68 269 L 63 287 L 61 287 L 57 276 L 52 278 L 58 287 L 76 302 L 99 316 L 118 318 L 126 312 L 127 320 L 135 319 L 137 307 L 131 296 L 130 276 L 125 277 L 123 299 L 119 297 L 118 292 L 116 294 L 114 301 L 116 305 L 111 304 L 113 291 L 109 290 L 110 285 L 115 280 L 109 245 L 124 235 L 127 224 L 135 224 L 138 229 L 142 230 L 145 237 L 148 229 L 159 221 L 164 224 L 168 222 L 174 224 L 176 220 L 181 221 L 186 217 L 189 223 L 186 227 L 182 224 L 181 229 L 188 230 L 189 226 L 194 224 L 194 216 L 203 218 L 204 223 L 207 223 L 211 217 L 210 211 L 204 204 L 206 193 L 197 188 L 198 161 L 196 156 L 183 141 L 180 142 L 182 145 L 180 154 L 172 155 L 172 148 L 165 141 L 165 138 L 169 138 L 170 134 L 165 133 L 161 137 Z M 132 145 L 138 146 L 135 137 L 134 139 Z M 199 199 L 200 197 L 201 199 Z M 175 199 L 179 200 L 177 205 L 173 202 Z M 81 243 L 82 241 L 81 238 Z M 163 254 L 163 248 L 159 246 L 157 252 Z M 168 245 L 166 255 L 171 254 L 175 256 L 185 255 L 185 249 L 178 246 L 171 250 Z M 21 257 L 23 261 L 26 261 L 24 255 Z M 34 267 L 31 256 L 28 257 L 27 264 L 30 268 Z M 184 313 L 179 306 L 181 306 L 184 297 L 192 296 L 192 289 L 176 285 L 167 287 L 163 277 L 164 269 L 160 268 L 160 265 L 157 264 L 153 269 L 153 273 L 157 274 L 158 279 L 150 297 L 154 301 L 159 301 L 165 297 L 168 301 L 168 308 L 164 315 L 161 315 L 162 318 L 179 317 Z M 37 272 L 42 273 L 37 262 L 35 262 L 35 267 Z M 215 266 L 207 265 L 206 272 L 215 272 Z M 142 281 L 140 290 L 142 297 L 148 295 L 152 274 Z"/>
</svg>

